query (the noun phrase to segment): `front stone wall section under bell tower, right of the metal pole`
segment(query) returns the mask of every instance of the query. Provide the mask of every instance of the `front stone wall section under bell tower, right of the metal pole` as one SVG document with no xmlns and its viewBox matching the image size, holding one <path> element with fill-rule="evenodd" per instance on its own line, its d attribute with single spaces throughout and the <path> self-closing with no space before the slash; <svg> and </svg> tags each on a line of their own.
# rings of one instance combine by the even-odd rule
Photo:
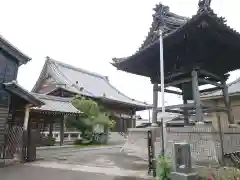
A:
<svg viewBox="0 0 240 180">
<path fill-rule="evenodd" d="M 191 146 L 192 161 L 196 164 L 218 164 L 221 157 L 220 136 L 212 125 L 196 125 L 182 128 L 167 128 L 167 155 L 172 157 L 176 142 L 187 142 Z"/>
</svg>

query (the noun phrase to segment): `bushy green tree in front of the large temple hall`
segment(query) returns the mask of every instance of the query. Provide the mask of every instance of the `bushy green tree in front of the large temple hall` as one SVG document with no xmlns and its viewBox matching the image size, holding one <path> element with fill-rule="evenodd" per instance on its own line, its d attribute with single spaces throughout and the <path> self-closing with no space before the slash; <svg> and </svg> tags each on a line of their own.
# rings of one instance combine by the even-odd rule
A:
<svg viewBox="0 0 240 180">
<path fill-rule="evenodd" d="M 102 125 L 104 129 L 113 128 L 115 121 L 110 120 L 105 108 L 98 105 L 97 102 L 82 96 L 76 96 L 72 100 L 73 106 L 83 113 L 82 116 L 69 117 L 67 126 L 74 127 L 81 132 L 82 138 L 91 140 L 93 137 L 93 127 Z"/>
</svg>

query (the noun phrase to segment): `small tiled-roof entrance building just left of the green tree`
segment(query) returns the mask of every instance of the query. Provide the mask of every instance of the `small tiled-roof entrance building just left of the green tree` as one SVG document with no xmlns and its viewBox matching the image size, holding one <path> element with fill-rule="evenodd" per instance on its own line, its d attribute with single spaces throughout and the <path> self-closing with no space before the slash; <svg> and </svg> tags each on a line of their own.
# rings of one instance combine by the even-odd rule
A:
<svg viewBox="0 0 240 180">
<path fill-rule="evenodd" d="M 44 103 L 41 107 L 32 107 L 29 117 L 29 128 L 37 133 L 36 146 L 73 143 L 66 135 L 78 136 L 78 132 L 66 132 L 65 118 L 81 116 L 82 113 L 71 103 L 72 98 L 31 93 Z M 55 133 L 57 131 L 57 133 Z M 67 134 L 66 134 L 67 133 Z M 54 142 L 51 142 L 54 139 Z M 76 138 L 72 138 L 75 139 Z M 70 141 L 70 142 L 69 142 Z"/>
</svg>

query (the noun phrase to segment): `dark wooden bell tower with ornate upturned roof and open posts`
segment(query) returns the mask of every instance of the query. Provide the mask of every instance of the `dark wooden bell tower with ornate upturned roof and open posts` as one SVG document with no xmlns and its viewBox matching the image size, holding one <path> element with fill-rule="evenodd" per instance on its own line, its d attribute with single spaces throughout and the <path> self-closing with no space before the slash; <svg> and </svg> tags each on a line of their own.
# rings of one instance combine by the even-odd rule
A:
<svg viewBox="0 0 240 180">
<path fill-rule="evenodd" d="M 113 65 L 119 70 L 149 77 L 153 83 L 153 123 L 157 113 L 160 87 L 160 44 L 163 39 L 165 92 L 182 95 L 184 104 L 167 106 L 166 111 L 189 116 L 203 121 L 204 113 L 223 111 L 229 123 L 234 123 L 228 97 L 226 80 L 228 72 L 239 69 L 240 35 L 227 26 L 223 17 L 218 17 L 210 7 L 211 1 L 199 0 L 198 11 L 191 18 L 169 10 L 161 3 L 154 8 L 153 23 L 143 44 L 136 53 L 125 58 L 114 58 Z M 217 64 L 217 66 L 216 66 Z M 136 68 L 137 67 L 137 68 Z M 214 88 L 199 90 L 210 84 Z M 168 87 L 180 91 L 172 91 Z M 204 104 L 200 94 L 223 91 L 224 107 Z"/>
</svg>

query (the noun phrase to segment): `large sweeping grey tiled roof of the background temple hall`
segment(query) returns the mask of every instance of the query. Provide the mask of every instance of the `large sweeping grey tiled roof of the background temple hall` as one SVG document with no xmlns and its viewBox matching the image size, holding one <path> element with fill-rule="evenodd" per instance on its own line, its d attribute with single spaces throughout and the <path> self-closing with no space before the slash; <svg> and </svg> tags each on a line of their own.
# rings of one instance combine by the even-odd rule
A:
<svg viewBox="0 0 240 180">
<path fill-rule="evenodd" d="M 121 93 L 109 82 L 106 76 L 89 72 L 50 58 L 47 58 L 45 64 L 47 64 L 45 68 L 48 69 L 48 73 L 50 73 L 59 84 L 63 84 L 61 87 L 68 91 L 132 106 L 150 107 L 147 103 L 137 101 Z"/>
</svg>

